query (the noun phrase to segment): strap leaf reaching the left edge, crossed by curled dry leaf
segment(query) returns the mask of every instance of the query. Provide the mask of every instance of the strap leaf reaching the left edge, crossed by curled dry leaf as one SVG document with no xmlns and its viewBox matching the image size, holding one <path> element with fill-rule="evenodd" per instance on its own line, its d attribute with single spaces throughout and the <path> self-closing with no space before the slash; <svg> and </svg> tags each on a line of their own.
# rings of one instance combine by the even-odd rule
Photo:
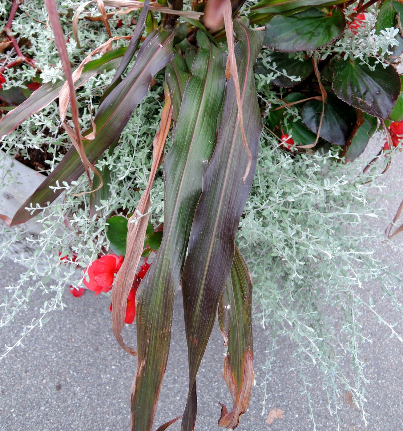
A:
<svg viewBox="0 0 403 431">
<path fill-rule="evenodd" d="M 84 66 L 80 78 L 75 82 L 75 87 L 81 87 L 81 85 L 97 73 L 102 73 L 104 71 L 109 72 L 109 70 L 116 69 L 120 57 L 124 55 L 125 51 L 126 47 L 118 48 L 103 54 L 99 59 L 88 62 Z M 10 134 L 28 117 L 44 109 L 44 107 L 52 103 L 53 100 L 56 100 L 59 97 L 59 91 L 63 87 L 63 84 L 64 81 L 57 81 L 54 84 L 47 82 L 41 85 L 41 87 L 34 91 L 25 102 L 21 103 L 14 108 L 12 112 L 9 112 L 0 119 L 0 138 Z"/>
</svg>

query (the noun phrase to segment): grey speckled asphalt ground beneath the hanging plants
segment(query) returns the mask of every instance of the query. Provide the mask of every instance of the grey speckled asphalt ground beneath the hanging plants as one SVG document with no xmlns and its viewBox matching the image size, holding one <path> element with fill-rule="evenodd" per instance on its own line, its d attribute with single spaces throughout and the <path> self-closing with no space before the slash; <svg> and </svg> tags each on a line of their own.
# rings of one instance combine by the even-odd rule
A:
<svg viewBox="0 0 403 431">
<path fill-rule="evenodd" d="M 378 152 L 379 145 L 372 145 L 367 154 Z M 402 156 L 396 159 L 386 174 L 388 184 L 403 190 Z M 369 159 L 369 156 L 367 156 Z M 399 181 L 400 182 L 399 182 Z M 403 193 L 402 193 L 403 194 Z M 401 195 L 402 195 L 401 194 Z M 388 219 L 393 217 L 399 197 L 383 203 Z M 373 227 L 382 235 L 385 220 L 374 220 Z M 363 226 L 365 228 L 365 226 Z M 402 241 L 397 237 L 395 241 Z M 385 244 L 377 250 L 384 263 L 400 264 L 403 256 L 397 255 Z M 0 269 L 0 285 L 9 284 L 20 268 L 10 265 Z M 400 287 L 400 286 L 398 286 Z M 389 301 L 381 300 L 377 285 L 363 287 L 364 296 L 372 296 L 378 312 L 389 322 L 397 317 Z M 403 294 L 399 291 L 400 300 Z M 41 330 L 34 331 L 25 339 L 25 348 L 14 350 L 0 362 L 0 430 L 1 431 L 101 431 L 129 429 L 130 390 L 137 359 L 125 353 L 116 343 L 110 329 L 109 300 L 95 298 L 90 292 L 83 297 L 66 295 L 68 308 L 53 315 Z M 30 311 L 24 316 L 29 322 L 30 312 L 38 310 L 43 298 L 37 296 Z M 374 321 L 372 315 L 364 312 L 364 332 L 373 340 L 362 345 L 366 361 L 366 376 L 371 384 L 366 389 L 369 425 L 366 429 L 375 431 L 403 430 L 403 345 L 396 339 L 389 339 L 388 329 Z M 175 300 L 172 342 L 168 368 L 156 414 L 155 428 L 163 422 L 181 414 L 187 394 L 187 350 L 183 328 L 181 295 Z M 400 331 L 403 325 L 399 325 Z M 22 328 L 19 319 L 2 330 L 0 342 L 15 341 Z M 134 325 L 124 329 L 125 339 L 135 345 Z M 267 411 L 261 415 L 262 365 L 265 350 L 270 340 L 266 333 L 254 327 L 255 372 L 257 387 L 254 387 L 249 411 L 242 417 L 239 431 L 310 431 L 312 422 L 306 397 L 301 395 L 301 382 L 292 356 L 291 342 L 283 339 L 276 351 L 276 360 Z M 215 326 L 206 350 L 197 380 L 198 415 L 197 431 L 219 429 L 217 420 L 218 402 L 231 406 L 228 390 L 222 380 L 222 336 Z M 316 367 L 309 369 L 309 382 L 315 409 L 318 430 L 336 430 L 336 420 L 327 409 L 326 394 L 318 380 Z M 342 430 L 363 430 L 359 411 L 345 392 L 339 412 Z M 284 418 L 266 424 L 272 408 L 284 410 Z M 179 430 L 179 424 L 172 425 Z"/>
</svg>

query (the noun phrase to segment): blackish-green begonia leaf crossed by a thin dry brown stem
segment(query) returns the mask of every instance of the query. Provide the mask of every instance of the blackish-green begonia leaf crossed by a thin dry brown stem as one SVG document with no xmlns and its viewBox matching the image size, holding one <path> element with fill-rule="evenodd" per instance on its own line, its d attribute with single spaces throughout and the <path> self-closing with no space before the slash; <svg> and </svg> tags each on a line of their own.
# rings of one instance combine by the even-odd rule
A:
<svg viewBox="0 0 403 431">
<path fill-rule="evenodd" d="M 314 133 L 317 133 L 322 115 L 322 101 L 311 100 L 305 103 L 301 111 L 303 122 Z M 337 99 L 334 94 L 328 94 L 325 102 L 325 115 L 319 136 L 335 145 L 346 145 L 357 122 L 356 110 Z"/>
</svg>

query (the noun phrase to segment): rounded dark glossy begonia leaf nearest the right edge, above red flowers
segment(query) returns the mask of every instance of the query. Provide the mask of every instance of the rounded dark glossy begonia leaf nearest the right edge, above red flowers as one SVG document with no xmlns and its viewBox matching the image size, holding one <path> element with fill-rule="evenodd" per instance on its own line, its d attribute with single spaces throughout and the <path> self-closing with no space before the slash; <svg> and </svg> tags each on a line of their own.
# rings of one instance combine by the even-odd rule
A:
<svg viewBox="0 0 403 431">
<path fill-rule="evenodd" d="M 369 58 L 368 62 L 369 65 L 360 59 L 337 61 L 333 90 L 349 105 L 387 119 L 400 95 L 400 77 L 393 66 L 385 69 L 380 63 L 376 64 L 374 58 Z"/>
</svg>

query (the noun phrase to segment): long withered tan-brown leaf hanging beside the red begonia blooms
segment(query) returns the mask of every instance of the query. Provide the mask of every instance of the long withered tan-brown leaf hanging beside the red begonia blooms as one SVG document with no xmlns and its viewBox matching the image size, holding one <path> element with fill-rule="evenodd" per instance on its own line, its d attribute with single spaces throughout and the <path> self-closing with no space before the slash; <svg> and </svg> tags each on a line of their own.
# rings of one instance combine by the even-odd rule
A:
<svg viewBox="0 0 403 431">
<path fill-rule="evenodd" d="M 141 196 L 134 214 L 128 221 L 125 261 L 115 278 L 112 289 L 112 304 L 115 304 L 112 307 L 112 331 L 119 345 L 133 356 L 137 355 L 137 352 L 125 344 L 121 333 L 125 325 L 127 297 L 131 285 L 133 284 L 141 253 L 143 253 L 144 238 L 146 236 L 149 219 L 148 209 L 150 207 L 151 186 L 153 185 L 157 169 L 162 162 L 165 141 L 171 127 L 171 122 L 172 103 L 168 87 L 166 86 L 165 105 L 162 109 L 161 122 L 153 141 L 153 162 L 151 165 L 150 177 L 148 178 L 146 190 Z"/>
</svg>

